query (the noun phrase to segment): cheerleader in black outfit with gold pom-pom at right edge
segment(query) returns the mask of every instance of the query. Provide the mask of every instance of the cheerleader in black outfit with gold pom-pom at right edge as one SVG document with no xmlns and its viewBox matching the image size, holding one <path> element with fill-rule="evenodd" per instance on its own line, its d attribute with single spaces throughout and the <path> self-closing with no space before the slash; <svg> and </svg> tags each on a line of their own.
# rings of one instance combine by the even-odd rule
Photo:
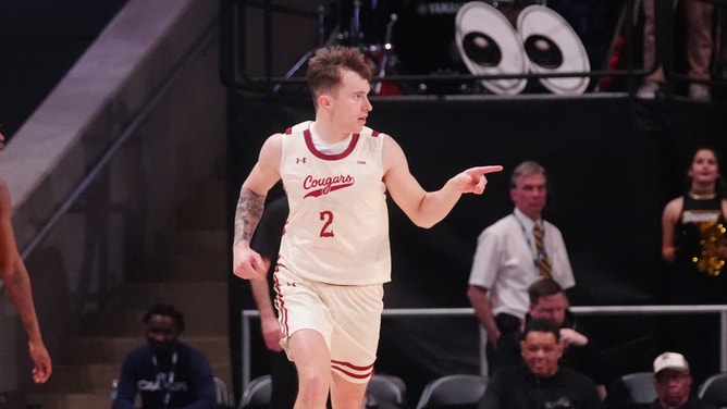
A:
<svg viewBox="0 0 727 409">
<path fill-rule="evenodd" d="M 685 193 L 662 215 L 664 277 L 671 305 L 720 305 L 727 300 L 727 199 L 717 152 L 699 148 L 687 169 Z M 719 321 L 714 314 L 670 319 L 666 348 L 691 362 L 697 382 L 719 370 Z M 699 334 L 699 336 L 695 336 Z"/>
</svg>

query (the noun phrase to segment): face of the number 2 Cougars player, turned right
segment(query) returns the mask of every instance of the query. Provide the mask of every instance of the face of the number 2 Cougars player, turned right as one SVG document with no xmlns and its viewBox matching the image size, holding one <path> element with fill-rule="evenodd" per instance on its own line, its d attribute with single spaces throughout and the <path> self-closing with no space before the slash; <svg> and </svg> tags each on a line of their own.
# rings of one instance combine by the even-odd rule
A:
<svg viewBox="0 0 727 409">
<path fill-rule="evenodd" d="M 332 99 L 333 122 L 345 133 L 359 133 L 369 112 L 373 109 L 369 102 L 371 86 L 358 73 L 346 71 L 337 92 Z"/>
</svg>

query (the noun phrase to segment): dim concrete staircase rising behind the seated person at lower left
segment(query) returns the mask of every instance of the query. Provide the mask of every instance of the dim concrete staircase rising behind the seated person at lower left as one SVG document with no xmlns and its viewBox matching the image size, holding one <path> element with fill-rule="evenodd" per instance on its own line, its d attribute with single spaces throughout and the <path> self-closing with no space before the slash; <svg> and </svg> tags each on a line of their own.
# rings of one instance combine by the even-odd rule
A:
<svg viewBox="0 0 727 409">
<path fill-rule="evenodd" d="M 53 376 L 29 387 L 28 408 L 111 407 L 111 380 L 119 377 L 128 351 L 145 343 L 141 319 L 156 302 L 171 303 L 184 313 L 181 339 L 205 354 L 214 375 L 232 389 L 225 195 L 223 177 L 196 188 L 176 210 L 180 230 L 160 234 L 156 257 L 116 288 L 103 311 L 84 318 L 79 330 L 63 340 Z"/>
</svg>

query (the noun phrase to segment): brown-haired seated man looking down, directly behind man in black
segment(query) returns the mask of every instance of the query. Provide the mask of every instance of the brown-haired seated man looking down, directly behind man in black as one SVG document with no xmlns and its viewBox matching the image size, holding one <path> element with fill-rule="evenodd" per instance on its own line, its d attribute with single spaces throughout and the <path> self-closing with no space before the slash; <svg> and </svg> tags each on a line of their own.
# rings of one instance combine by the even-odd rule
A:
<svg viewBox="0 0 727 409">
<path fill-rule="evenodd" d="M 528 288 L 530 311 L 526 319 L 542 318 L 555 322 L 560 329 L 564 345 L 560 364 L 589 376 L 595 383 L 601 399 L 606 398 L 608 371 L 601 350 L 577 325 L 576 315 L 569 310 L 570 301 L 563 287 L 553 280 L 543 278 Z"/>
</svg>

